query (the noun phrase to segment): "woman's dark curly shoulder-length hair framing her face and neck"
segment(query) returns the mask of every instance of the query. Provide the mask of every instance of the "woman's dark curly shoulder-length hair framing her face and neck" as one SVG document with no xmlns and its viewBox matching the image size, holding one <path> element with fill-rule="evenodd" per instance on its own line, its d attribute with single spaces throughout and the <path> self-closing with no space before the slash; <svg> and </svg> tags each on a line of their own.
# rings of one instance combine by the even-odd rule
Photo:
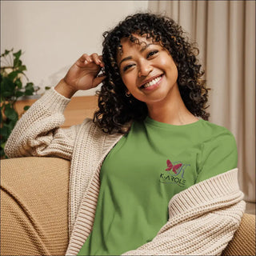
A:
<svg viewBox="0 0 256 256">
<path fill-rule="evenodd" d="M 122 49 L 121 39 L 130 38 L 132 34 L 145 35 L 159 42 L 170 52 L 178 69 L 178 89 L 182 100 L 190 113 L 208 120 L 206 113 L 208 88 L 202 78 L 204 72 L 196 56 L 198 48 L 190 44 L 184 36 L 182 27 L 172 18 L 163 15 L 138 13 L 126 17 L 113 30 L 103 33 L 102 61 L 105 63 L 103 73 L 106 79 L 102 82 L 98 94 L 98 111 L 94 113 L 96 123 L 107 134 L 126 133 L 126 123 L 142 121 L 148 110 L 145 102 L 126 97 L 126 86 L 122 82 L 117 63 L 117 53 Z"/>
</svg>

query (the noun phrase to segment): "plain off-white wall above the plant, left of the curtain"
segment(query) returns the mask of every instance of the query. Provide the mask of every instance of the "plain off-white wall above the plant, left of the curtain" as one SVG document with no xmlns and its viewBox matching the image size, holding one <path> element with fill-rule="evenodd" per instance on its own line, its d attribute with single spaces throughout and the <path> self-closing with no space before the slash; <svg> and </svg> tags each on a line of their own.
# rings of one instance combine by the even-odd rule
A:
<svg viewBox="0 0 256 256">
<path fill-rule="evenodd" d="M 148 1 L 1 1 L 1 53 L 22 49 L 30 81 L 54 86 L 82 54 L 101 53 L 105 30 L 147 6 Z"/>
</svg>

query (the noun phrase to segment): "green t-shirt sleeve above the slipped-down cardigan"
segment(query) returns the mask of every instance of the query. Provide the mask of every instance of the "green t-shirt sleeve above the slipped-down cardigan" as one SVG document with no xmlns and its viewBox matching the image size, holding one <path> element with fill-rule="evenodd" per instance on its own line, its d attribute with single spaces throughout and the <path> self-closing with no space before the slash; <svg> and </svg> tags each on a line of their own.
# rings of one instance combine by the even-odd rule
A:
<svg viewBox="0 0 256 256">
<path fill-rule="evenodd" d="M 196 183 L 222 174 L 238 166 L 238 150 L 234 135 L 223 128 L 202 144 L 202 156 L 198 162 Z"/>
</svg>

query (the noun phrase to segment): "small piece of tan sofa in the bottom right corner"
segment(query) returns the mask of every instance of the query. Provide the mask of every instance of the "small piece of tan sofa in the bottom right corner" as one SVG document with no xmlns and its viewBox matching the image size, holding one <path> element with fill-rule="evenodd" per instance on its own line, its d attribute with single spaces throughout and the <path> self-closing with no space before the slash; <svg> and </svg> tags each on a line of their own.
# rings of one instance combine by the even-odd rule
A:
<svg viewBox="0 0 256 256">
<path fill-rule="evenodd" d="M 244 214 L 234 238 L 229 242 L 222 255 L 256 255 L 255 215 Z"/>
</svg>

